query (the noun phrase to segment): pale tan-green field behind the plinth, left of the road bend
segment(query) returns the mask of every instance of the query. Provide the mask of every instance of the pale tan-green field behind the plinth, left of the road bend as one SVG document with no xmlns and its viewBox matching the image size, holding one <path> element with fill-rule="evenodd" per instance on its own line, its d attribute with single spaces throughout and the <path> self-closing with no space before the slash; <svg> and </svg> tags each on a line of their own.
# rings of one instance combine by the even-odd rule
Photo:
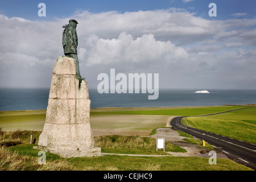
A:
<svg viewBox="0 0 256 182">
<path fill-rule="evenodd" d="M 96 114 L 93 114 L 96 113 Z M 46 119 L 44 111 L 0 111 L 0 127 L 3 130 L 42 131 Z M 166 115 L 128 115 L 101 112 L 90 113 L 92 129 L 148 130 L 164 127 Z"/>
</svg>

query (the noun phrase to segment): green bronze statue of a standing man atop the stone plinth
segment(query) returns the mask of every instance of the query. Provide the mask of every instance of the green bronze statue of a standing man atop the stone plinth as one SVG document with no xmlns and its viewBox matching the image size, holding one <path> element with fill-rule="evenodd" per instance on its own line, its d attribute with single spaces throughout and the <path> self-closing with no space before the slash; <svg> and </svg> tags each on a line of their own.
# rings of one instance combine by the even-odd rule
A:
<svg viewBox="0 0 256 182">
<path fill-rule="evenodd" d="M 66 24 L 63 26 L 64 31 L 63 31 L 63 39 L 62 39 L 62 45 L 64 48 L 64 54 L 67 57 L 72 57 L 73 59 L 76 60 L 76 77 L 78 79 L 85 80 L 85 78 L 82 78 L 80 75 L 80 70 L 79 70 L 79 60 L 77 57 L 77 46 L 78 46 L 78 41 L 77 41 L 77 34 L 76 34 L 76 26 L 77 26 L 77 21 L 75 19 L 70 19 L 69 24 Z"/>
</svg>

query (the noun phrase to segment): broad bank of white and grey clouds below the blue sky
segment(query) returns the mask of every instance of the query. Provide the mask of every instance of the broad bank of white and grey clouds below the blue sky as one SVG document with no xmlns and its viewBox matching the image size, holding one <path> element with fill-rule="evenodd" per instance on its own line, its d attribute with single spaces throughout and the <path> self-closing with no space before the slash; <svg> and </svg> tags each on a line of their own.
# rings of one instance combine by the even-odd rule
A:
<svg viewBox="0 0 256 182">
<path fill-rule="evenodd" d="M 110 68 L 159 73 L 162 85 L 171 82 L 174 87 L 210 85 L 213 79 L 225 86 L 221 80 L 225 74 L 232 75 L 236 85 L 238 75 L 251 76 L 256 69 L 255 30 L 251 28 L 255 18 L 207 20 L 184 9 L 123 14 L 77 11 L 52 22 L 0 15 L 5 25 L 0 27 L 0 86 L 49 86 L 56 58 L 64 55 L 62 26 L 71 18 L 79 22 L 81 75 L 93 86 L 97 86 L 98 73 Z M 251 79 L 243 82 L 247 88 L 255 85 Z"/>
</svg>

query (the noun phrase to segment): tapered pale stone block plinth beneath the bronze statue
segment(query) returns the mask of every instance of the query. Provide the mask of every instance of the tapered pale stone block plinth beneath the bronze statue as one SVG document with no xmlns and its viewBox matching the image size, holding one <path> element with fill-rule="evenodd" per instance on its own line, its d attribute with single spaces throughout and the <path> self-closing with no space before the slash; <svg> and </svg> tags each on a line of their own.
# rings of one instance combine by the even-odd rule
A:
<svg viewBox="0 0 256 182">
<path fill-rule="evenodd" d="M 41 150 L 63 156 L 100 156 L 90 128 L 88 83 L 76 78 L 75 59 L 60 56 L 53 68 L 46 123 L 40 134 Z"/>
</svg>

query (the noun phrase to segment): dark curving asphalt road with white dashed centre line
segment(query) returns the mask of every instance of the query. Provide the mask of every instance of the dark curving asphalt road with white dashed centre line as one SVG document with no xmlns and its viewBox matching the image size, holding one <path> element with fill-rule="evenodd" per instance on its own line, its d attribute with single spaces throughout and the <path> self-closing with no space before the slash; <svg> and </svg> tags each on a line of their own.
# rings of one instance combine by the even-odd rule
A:
<svg viewBox="0 0 256 182">
<path fill-rule="evenodd" d="M 244 109 L 244 108 L 242 108 Z M 235 109 L 238 110 L 238 109 Z M 233 110 L 230 110 L 233 111 Z M 225 111 L 222 113 L 226 113 Z M 215 113 L 220 114 L 220 113 Z M 213 114 L 207 114 L 213 115 Z M 210 133 L 208 131 L 203 131 L 188 127 L 183 125 L 181 119 L 187 117 L 176 117 L 173 118 L 170 122 L 170 125 L 177 130 L 183 131 L 189 135 L 192 135 L 195 138 L 203 139 L 205 142 L 211 144 L 215 150 L 222 151 L 230 159 L 236 161 L 237 163 L 243 164 L 252 169 L 256 169 L 256 145 L 243 142 L 241 140 L 232 139 L 229 137 L 224 137 L 222 135 Z M 210 156 L 209 156 L 210 157 Z M 218 163 L 218 161 L 217 161 Z"/>
</svg>

